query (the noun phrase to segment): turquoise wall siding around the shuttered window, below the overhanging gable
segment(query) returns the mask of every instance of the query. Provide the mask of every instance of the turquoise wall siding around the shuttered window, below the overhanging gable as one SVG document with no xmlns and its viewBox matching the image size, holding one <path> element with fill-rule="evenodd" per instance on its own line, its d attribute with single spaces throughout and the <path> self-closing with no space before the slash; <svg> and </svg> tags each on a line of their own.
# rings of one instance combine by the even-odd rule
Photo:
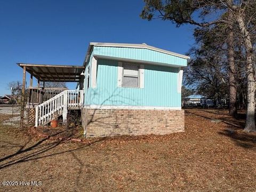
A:
<svg viewBox="0 0 256 192">
<path fill-rule="evenodd" d="M 93 54 L 98 54 L 95 48 L 97 47 L 94 47 Z M 123 56 L 129 57 L 129 55 L 127 53 Z M 139 55 L 133 57 L 140 57 Z M 181 106 L 181 94 L 178 93 L 178 68 L 145 64 L 144 88 L 140 89 L 117 87 L 118 61 L 98 59 L 97 64 L 97 87 L 86 90 L 85 81 L 85 105 Z"/>
</svg>

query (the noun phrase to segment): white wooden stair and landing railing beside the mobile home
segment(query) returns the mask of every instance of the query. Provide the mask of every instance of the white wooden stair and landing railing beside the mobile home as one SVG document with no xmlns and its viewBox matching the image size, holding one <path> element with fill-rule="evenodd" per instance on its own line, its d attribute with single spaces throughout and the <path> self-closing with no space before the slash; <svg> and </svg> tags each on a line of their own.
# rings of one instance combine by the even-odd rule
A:
<svg viewBox="0 0 256 192">
<path fill-rule="evenodd" d="M 83 106 L 83 90 L 66 90 L 36 107 L 35 126 L 45 125 L 55 117 L 63 116 L 63 124 L 66 123 L 68 109 Z"/>
</svg>

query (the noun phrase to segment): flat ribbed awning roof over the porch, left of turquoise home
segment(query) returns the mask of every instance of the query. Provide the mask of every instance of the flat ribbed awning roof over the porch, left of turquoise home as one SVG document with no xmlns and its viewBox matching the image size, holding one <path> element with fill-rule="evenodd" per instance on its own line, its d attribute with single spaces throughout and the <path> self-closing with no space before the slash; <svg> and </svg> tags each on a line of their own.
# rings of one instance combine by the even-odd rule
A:
<svg viewBox="0 0 256 192">
<path fill-rule="evenodd" d="M 17 63 L 41 82 L 79 82 L 83 66 Z"/>
</svg>

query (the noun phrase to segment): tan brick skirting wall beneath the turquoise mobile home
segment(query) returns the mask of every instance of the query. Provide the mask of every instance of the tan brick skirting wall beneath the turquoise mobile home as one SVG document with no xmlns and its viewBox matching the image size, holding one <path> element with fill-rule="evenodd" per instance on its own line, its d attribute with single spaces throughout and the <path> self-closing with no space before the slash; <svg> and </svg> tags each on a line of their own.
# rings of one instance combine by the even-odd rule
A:
<svg viewBox="0 0 256 192">
<path fill-rule="evenodd" d="M 184 110 L 82 109 L 86 137 L 185 131 Z"/>
</svg>

